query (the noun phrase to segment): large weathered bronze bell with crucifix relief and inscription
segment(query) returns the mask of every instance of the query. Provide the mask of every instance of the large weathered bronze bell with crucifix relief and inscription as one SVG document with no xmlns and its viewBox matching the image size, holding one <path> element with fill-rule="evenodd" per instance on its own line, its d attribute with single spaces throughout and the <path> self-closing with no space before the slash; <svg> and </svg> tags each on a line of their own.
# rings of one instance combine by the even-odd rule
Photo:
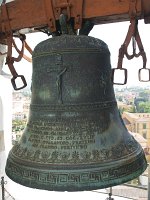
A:
<svg viewBox="0 0 150 200">
<path fill-rule="evenodd" d="M 32 188 L 83 191 L 127 182 L 146 167 L 118 112 L 107 45 L 76 35 L 38 44 L 30 116 L 6 174 Z"/>
</svg>

